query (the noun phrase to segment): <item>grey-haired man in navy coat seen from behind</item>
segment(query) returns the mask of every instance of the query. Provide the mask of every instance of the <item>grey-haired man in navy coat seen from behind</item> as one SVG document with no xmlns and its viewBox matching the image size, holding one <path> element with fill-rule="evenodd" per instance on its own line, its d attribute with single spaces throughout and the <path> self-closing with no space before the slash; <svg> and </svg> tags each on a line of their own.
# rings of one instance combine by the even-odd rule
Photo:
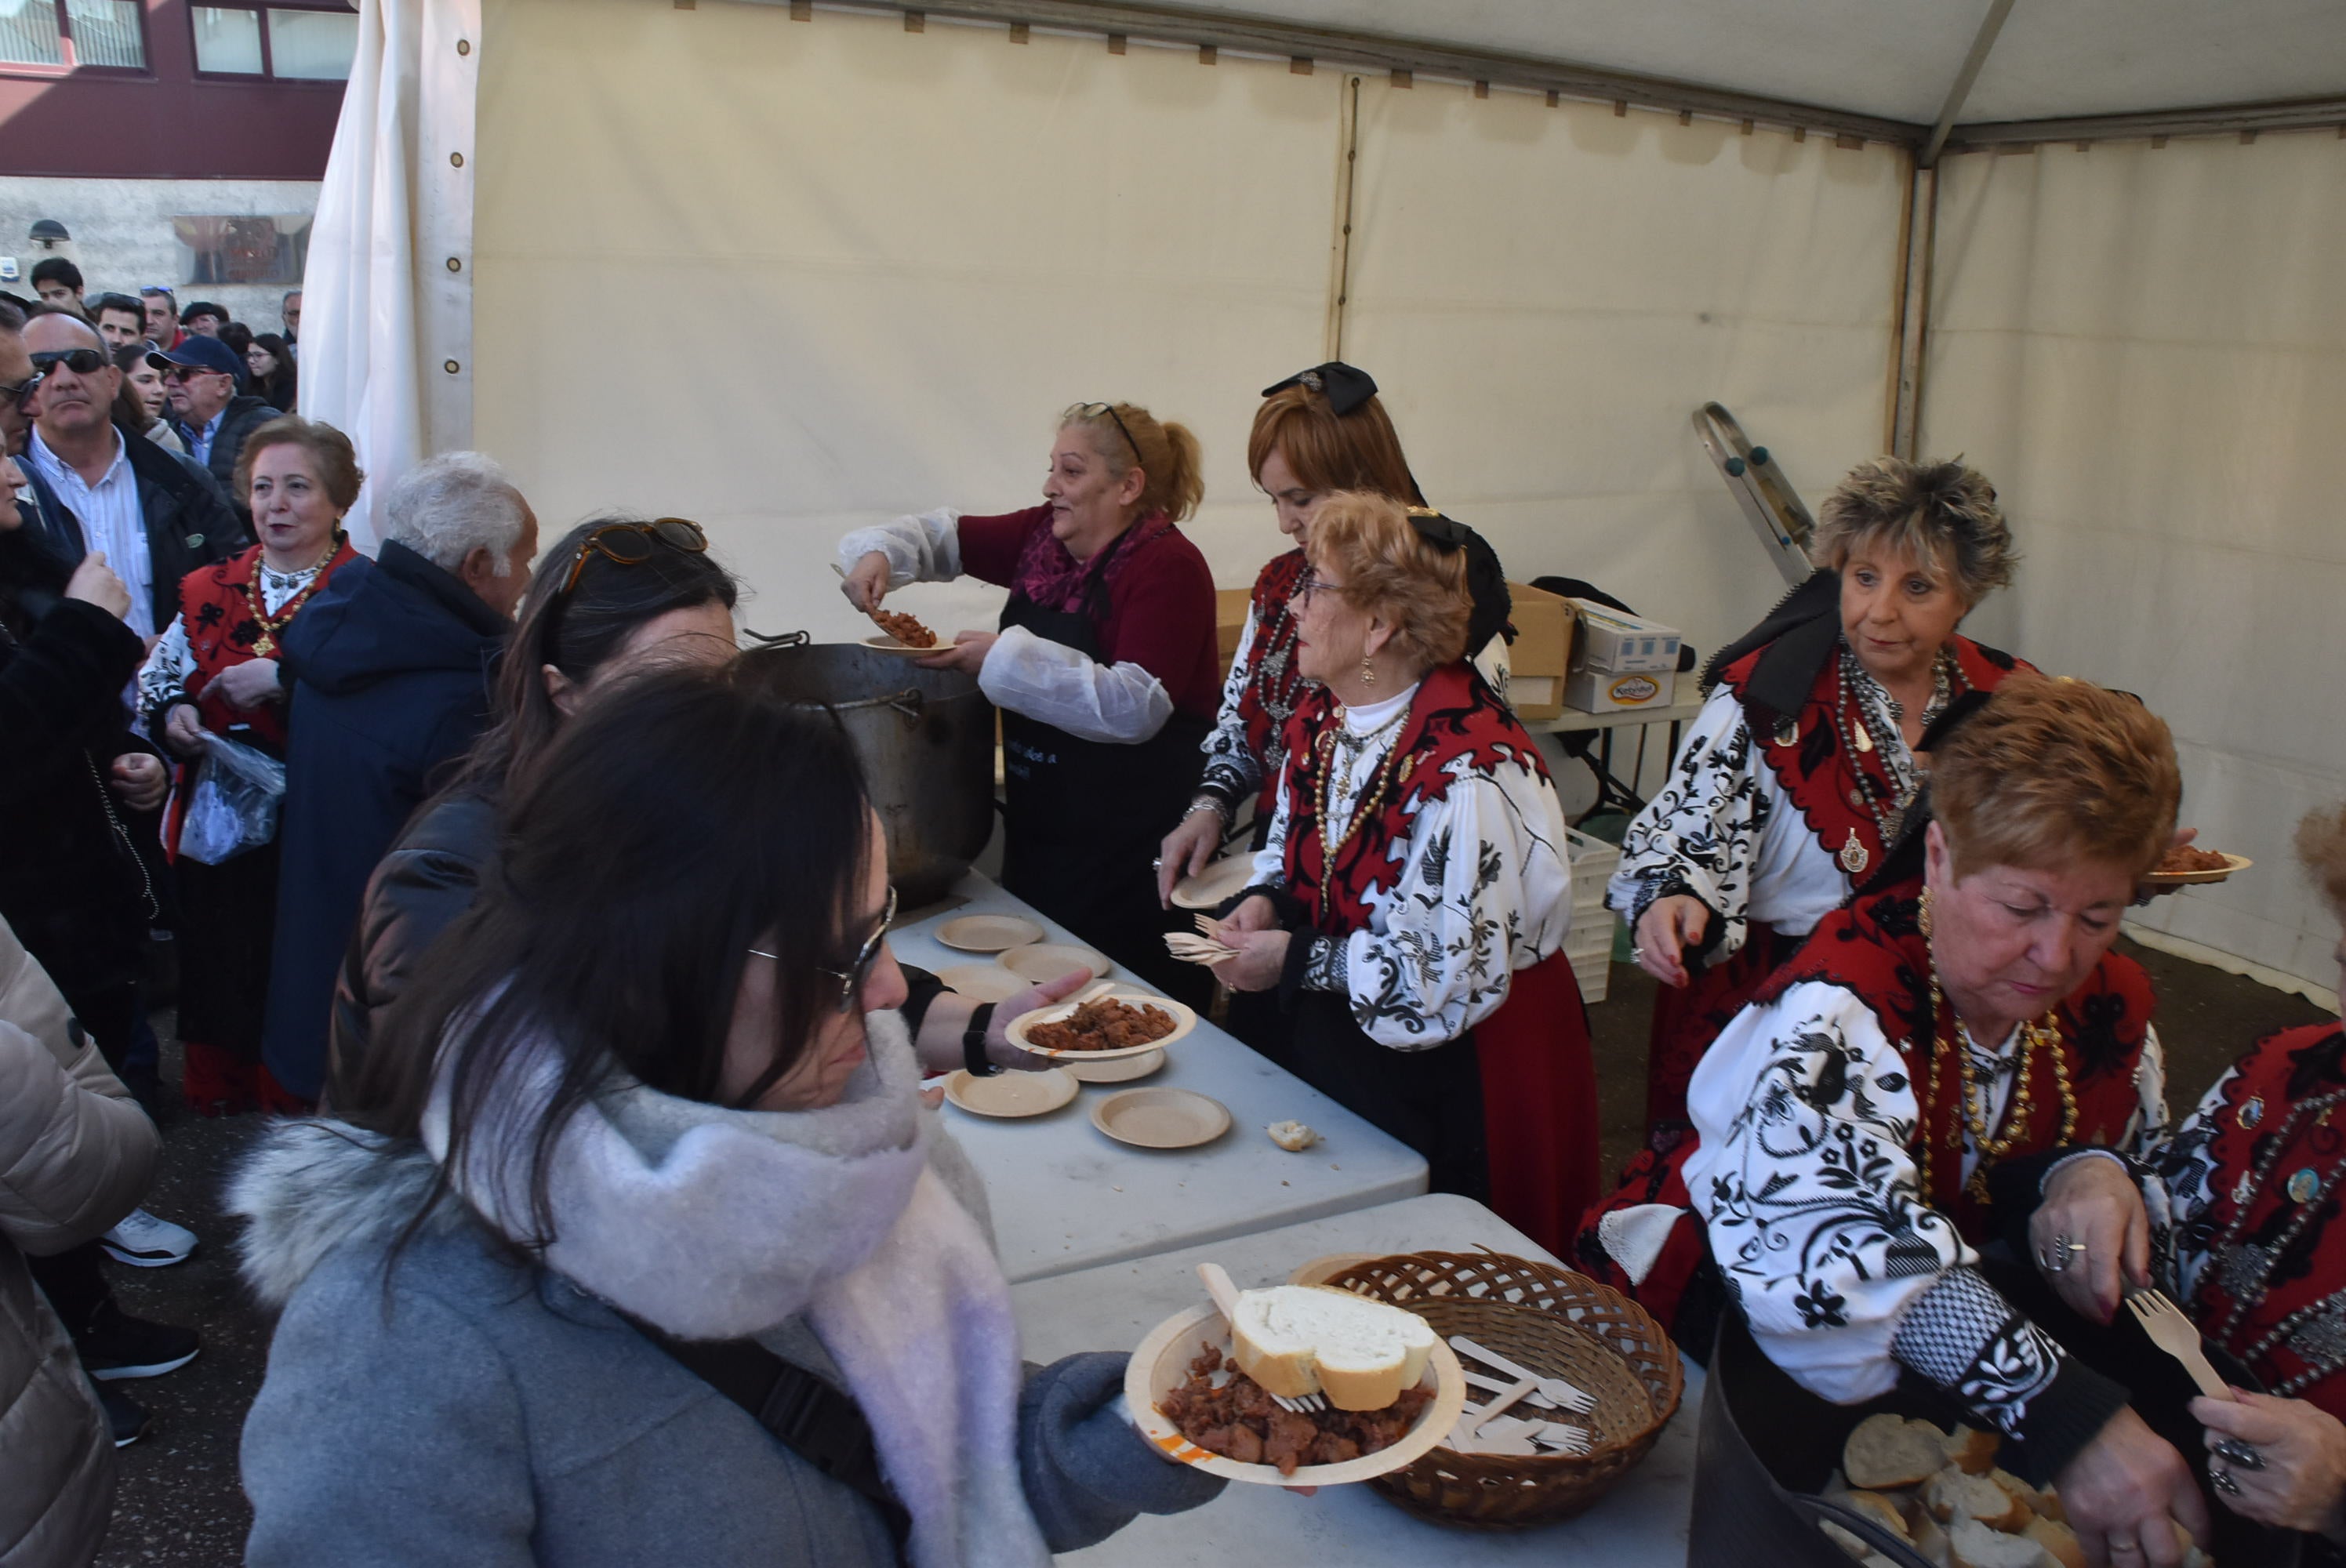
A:
<svg viewBox="0 0 2346 1568">
<path fill-rule="evenodd" d="M 284 1108 L 326 1082 L 326 1009 L 366 878 L 488 723 L 488 681 L 530 584 L 537 516 L 481 453 L 382 500 L 382 549 L 343 566 L 284 634 L 293 678 L 263 1061 Z"/>
</svg>

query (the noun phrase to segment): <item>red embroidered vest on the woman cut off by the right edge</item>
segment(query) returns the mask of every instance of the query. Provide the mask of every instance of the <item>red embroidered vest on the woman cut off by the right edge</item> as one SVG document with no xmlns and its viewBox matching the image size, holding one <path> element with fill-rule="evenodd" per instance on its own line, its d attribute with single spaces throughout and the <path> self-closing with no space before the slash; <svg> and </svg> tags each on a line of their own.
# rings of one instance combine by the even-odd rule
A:
<svg viewBox="0 0 2346 1568">
<path fill-rule="evenodd" d="M 2210 1195 L 2191 1221 L 2210 1251 L 2191 1317 L 2269 1390 L 2346 1420 L 2346 1228 L 2339 1242 L 2327 1235 L 2346 1185 L 2332 1181 L 2346 1160 L 2346 1106 L 2308 1106 L 2341 1089 L 2337 1023 L 2257 1042 L 2224 1082 L 2210 1117 Z"/>
</svg>

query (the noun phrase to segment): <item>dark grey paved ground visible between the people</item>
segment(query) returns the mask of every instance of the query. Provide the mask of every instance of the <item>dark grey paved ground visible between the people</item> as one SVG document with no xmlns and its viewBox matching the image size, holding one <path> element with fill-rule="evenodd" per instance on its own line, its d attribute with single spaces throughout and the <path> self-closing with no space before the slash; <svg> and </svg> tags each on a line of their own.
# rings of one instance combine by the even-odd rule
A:
<svg viewBox="0 0 2346 1568">
<path fill-rule="evenodd" d="M 2271 991 L 2219 969 L 2123 944 L 2158 986 L 2158 1028 L 2168 1045 L 2168 1099 L 2182 1115 L 2217 1073 L 2255 1038 L 2325 1014 L 2304 998 Z M 1602 1084 L 1605 1169 L 1616 1171 L 1638 1148 L 1645 1110 L 1645 1033 L 1654 984 L 1614 965 L 1612 993 L 1591 1007 Z M 155 1026 L 169 1040 L 169 1014 Z M 178 1080 L 178 1054 L 164 1049 L 164 1080 Z M 260 1387 L 267 1322 L 237 1286 L 232 1228 L 221 1218 L 221 1181 L 258 1129 L 258 1117 L 206 1122 L 167 1117 L 164 1171 L 148 1209 L 192 1225 L 202 1251 L 169 1270 L 113 1270 L 122 1305 L 141 1317 L 195 1324 L 204 1354 L 127 1390 L 155 1413 L 155 1434 L 122 1453 L 115 1528 L 99 1563 L 169 1563 L 230 1568 L 242 1559 L 251 1521 L 237 1488 L 237 1430 Z"/>
</svg>

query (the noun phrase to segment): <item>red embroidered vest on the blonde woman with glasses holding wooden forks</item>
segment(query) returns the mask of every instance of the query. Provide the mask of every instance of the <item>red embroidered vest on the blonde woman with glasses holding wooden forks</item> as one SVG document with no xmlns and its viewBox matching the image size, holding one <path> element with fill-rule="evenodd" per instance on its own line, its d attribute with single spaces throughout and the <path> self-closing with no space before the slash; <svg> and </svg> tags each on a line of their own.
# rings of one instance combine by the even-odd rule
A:
<svg viewBox="0 0 2346 1568">
<path fill-rule="evenodd" d="M 1328 864 L 1321 843 L 1318 793 L 1330 765 L 1330 746 L 1314 744 L 1321 732 L 1342 723 L 1328 688 L 1314 688 L 1288 721 L 1288 892 L 1311 911 L 1311 927 L 1342 937 L 1368 925 L 1370 894 L 1401 873 L 1410 826 L 1429 800 L 1450 793 L 1450 784 L 1492 772 L 1501 763 L 1530 768 L 1541 779 L 1548 763 L 1539 746 L 1466 664 L 1443 664 L 1431 671 L 1410 702 L 1394 753 L 1386 761 L 1384 800 Z"/>
</svg>

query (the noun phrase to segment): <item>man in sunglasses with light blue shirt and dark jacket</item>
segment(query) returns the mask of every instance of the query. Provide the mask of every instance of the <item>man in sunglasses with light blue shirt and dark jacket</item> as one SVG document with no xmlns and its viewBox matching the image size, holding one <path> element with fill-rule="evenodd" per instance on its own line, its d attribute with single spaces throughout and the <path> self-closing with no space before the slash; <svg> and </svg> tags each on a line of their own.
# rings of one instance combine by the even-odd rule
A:
<svg viewBox="0 0 2346 1568">
<path fill-rule="evenodd" d="M 251 538 L 211 474 L 115 427 L 122 371 L 89 322 L 33 317 L 23 343 L 40 373 L 23 401 L 33 418 L 23 469 L 47 542 L 66 561 L 103 549 L 131 589 L 122 620 L 155 636 L 178 615 L 181 577 L 230 559 Z"/>
</svg>

